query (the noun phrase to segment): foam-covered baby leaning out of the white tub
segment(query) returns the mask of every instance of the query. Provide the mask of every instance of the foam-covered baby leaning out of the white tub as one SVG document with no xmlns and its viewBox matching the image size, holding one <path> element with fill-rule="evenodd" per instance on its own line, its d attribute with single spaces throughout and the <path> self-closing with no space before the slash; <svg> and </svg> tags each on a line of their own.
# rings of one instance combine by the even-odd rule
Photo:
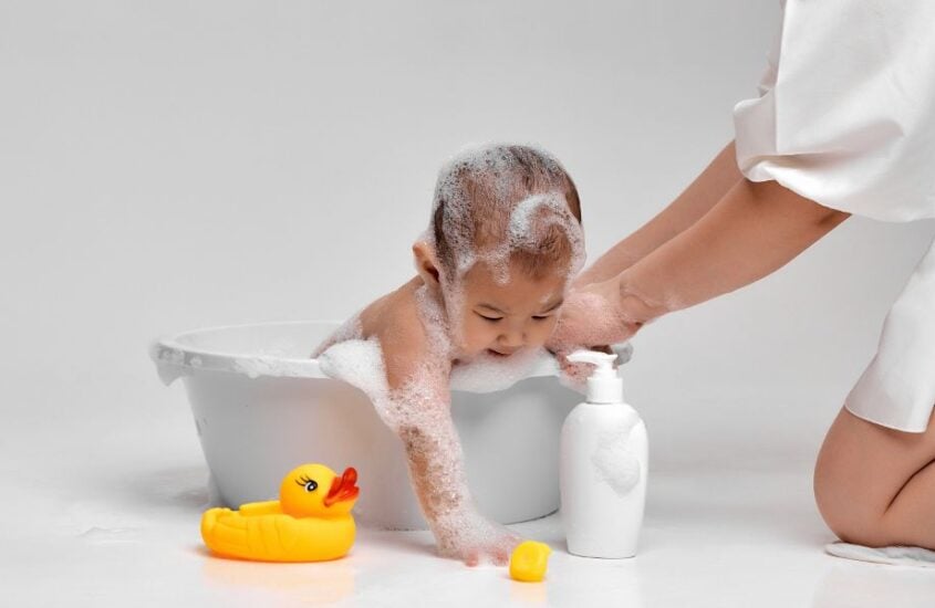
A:
<svg viewBox="0 0 935 608">
<path fill-rule="evenodd" d="M 418 274 L 313 356 L 366 392 L 402 439 L 439 553 L 502 565 L 520 538 L 472 503 L 449 382 L 466 367 L 516 370 L 542 352 L 584 262 L 578 191 L 541 150 L 467 150 L 443 167 L 413 254 Z"/>
</svg>

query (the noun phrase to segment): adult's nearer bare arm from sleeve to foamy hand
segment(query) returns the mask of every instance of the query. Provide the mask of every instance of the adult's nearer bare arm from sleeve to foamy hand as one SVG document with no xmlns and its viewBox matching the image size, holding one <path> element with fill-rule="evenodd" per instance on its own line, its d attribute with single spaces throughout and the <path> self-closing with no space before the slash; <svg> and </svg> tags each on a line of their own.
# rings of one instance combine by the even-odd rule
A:
<svg viewBox="0 0 935 608">
<path fill-rule="evenodd" d="M 679 234 L 611 279 L 576 290 L 550 347 L 562 353 L 623 342 L 654 318 L 775 272 L 848 217 L 775 181 L 741 179 Z"/>
</svg>

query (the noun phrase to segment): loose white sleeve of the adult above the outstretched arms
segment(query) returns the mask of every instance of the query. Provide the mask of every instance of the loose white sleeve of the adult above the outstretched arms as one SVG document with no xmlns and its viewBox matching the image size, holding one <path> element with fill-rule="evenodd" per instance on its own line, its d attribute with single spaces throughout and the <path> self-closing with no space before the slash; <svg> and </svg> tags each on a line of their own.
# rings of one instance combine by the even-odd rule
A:
<svg viewBox="0 0 935 608">
<path fill-rule="evenodd" d="M 737 163 L 820 205 L 935 218 L 935 1 L 788 0 Z"/>
</svg>

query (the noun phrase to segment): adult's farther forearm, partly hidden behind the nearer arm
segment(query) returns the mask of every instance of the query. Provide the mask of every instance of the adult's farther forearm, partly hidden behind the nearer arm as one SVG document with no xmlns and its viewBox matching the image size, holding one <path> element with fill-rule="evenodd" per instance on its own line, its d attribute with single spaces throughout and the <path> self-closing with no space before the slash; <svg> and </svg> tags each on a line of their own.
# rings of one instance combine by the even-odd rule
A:
<svg viewBox="0 0 935 608">
<path fill-rule="evenodd" d="M 575 284 L 588 285 L 616 276 L 694 224 L 740 179 L 731 141 L 678 198 L 599 258 L 581 273 Z"/>
</svg>

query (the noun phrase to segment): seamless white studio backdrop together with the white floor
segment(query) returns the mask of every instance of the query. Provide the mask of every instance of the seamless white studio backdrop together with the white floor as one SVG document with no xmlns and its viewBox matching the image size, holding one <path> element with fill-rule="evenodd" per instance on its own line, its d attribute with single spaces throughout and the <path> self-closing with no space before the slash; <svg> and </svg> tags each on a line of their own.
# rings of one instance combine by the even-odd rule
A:
<svg viewBox="0 0 935 608">
<path fill-rule="evenodd" d="M 635 339 L 650 495 L 636 559 L 544 585 L 364 531 L 349 559 L 209 558 L 206 468 L 162 334 L 341 318 L 405 281 L 435 172 L 538 143 L 592 260 L 731 138 L 775 0 L 0 0 L 0 587 L 11 606 L 928 606 L 846 563 L 809 471 L 935 227 L 849 220 Z M 673 577 L 672 573 L 678 573 Z M 11 585 L 12 584 L 12 585 Z"/>
</svg>

